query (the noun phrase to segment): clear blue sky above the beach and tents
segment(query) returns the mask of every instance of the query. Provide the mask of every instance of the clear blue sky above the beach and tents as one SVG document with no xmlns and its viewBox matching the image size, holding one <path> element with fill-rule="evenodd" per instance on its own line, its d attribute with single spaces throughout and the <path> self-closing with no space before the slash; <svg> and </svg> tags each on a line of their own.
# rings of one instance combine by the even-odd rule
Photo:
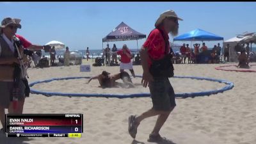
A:
<svg viewBox="0 0 256 144">
<path fill-rule="evenodd" d="M 179 21 L 179 35 L 200 28 L 228 40 L 245 31 L 256 32 L 255 2 L 0 2 L 0 19 L 21 19 L 17 34 L 33 44 L 58 40 L 71 50 L 102 49 L 102 38 L 121 22 L 148 36 L 166 10 L 184 19 Z M 138 40 L 139 48 L 145 40 Z M 213 47 L 218 42 L 222 44 L 205 43 Z M 137 49 L 136 40 L 109 42 L 110 47 L 113 44 Z"/>
</svg>

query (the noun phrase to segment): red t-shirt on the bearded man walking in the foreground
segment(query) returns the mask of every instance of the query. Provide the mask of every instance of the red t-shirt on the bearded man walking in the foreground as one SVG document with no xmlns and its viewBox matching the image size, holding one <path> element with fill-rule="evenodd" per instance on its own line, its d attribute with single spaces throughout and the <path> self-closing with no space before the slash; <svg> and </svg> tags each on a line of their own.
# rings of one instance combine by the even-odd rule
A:
<svg viewBox="0 0 256 144">
<path fill-rule="evenodd" d="M 163 28 L 161 28 L 164 31 Z M 164 36 L 169 40 L 168 33 L 164 31 Z M 143 44 L 143 47 L 148 50 L 148 56 L 153 60 L 159 60 L 165 55 L 165 40 L 158 29 L 154 29 L 148 36 L 146 42 Z M 168 43 L 168 53 L 170 52 L 170 44 Z M 148 59 L 148 66 L 152 64 L 152 61 Z"/>
</svg>

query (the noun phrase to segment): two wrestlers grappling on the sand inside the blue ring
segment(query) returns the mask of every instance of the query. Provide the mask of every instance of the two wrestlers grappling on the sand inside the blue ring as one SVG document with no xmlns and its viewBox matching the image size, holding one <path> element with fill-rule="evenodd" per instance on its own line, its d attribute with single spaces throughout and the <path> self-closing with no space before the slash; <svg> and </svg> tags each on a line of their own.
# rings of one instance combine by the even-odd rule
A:
<svg viewBox="0 0 256 144">
<path fill-rule="evenodd" d="M 88 83 L 90 83 L 90 81 L 92 81 L 92 79 L 98 79 L 100 86 L 102 86 L 102 88 L 111 88 L 116 86 L 116 80 L 118 79 L 122 79 L 124 84 L 125 84 L 125 88 L 134 88 L 134 84 L 132 83 L 131 77 L 129 76 L 129 74 L 127 72 L 120 72 L 118 74 L 110 74 L 109 72 L 103 71 L 102 74 L 95 76 L 95 77 L 91 77 L 88 81 Z M 87 84 L 88 84 L 87 83 Z"/>
</svg>

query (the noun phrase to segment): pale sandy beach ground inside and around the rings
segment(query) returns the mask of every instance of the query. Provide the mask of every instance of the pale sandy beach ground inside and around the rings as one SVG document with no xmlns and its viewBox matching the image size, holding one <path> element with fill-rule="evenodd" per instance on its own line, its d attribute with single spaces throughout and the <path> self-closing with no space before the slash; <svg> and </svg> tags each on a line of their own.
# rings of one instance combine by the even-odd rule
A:
<svg viewBox="0 0 256 144">
<path fill-rule="evenodd" d="M 29 68 L 29 83 L 53 77 L 95 76 L 102 70 L 111 74 L 119 67 L 92 67 L 92 72 L 79 72 L 79 65 L 70 67 Z M 235 64 L 235 63 L 231 63 Z M 252 63 L 255 64 L 255 63 Z M 160 134 L 176 144 L 254 144 L 256 143 L 256 88 L 254 72 L 226 72 L 215 70 L 225 64 L 180 64 L 174 65 L 175 76 L 199 76 L 225 79 L 234 83 L 234 88 L 224 93 L 205 97 L 176 99 L 177 106 L 164 124 Z M 253 69 L 256 66 L 253 67 Z M 136 75 L 141 75 L 141 66 L 134 66 Z M 130 73 L 129 73 L 130 74 Z M 140 85 L 141 78 L 132 78 L 136 88 L 99 88 L 98 81 L 86 84 L 88 79 L 52 81 L 36 84 L 36 90 L 69 93 L 144 93 L 148 88 Z M 215 90 L 225 84 L 193 79 L 170 79 L 175 93 Z M 118 81 L 122 83 L 122 81 Z M 128 116 L 140 115 L 152 107 L 146 98 L 95 98 L 95 97 L 45 97 L 31 94 L 24 104 L 24 113 L 83 113 L 84 132 L 81 138 L 6 138 L 0 143 L 148 143 L 148 134 L 156 122 L 156 116 L 143 120 L 138 127 L 136 140 L 127 131 Z"/>
</svg>

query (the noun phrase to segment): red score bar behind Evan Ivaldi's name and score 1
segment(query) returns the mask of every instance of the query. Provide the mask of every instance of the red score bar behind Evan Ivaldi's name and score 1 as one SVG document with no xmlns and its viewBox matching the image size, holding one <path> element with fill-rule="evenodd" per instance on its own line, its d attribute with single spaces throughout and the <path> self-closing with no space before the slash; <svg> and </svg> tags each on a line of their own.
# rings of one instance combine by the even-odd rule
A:
<svg viewBox="0 0 256 144">
<path fill-rule="evenodd" d="M 23 122 L 23 125 L 82 125 L 81 118 L 33 118 L 33 122 Z"/>
</svg>

